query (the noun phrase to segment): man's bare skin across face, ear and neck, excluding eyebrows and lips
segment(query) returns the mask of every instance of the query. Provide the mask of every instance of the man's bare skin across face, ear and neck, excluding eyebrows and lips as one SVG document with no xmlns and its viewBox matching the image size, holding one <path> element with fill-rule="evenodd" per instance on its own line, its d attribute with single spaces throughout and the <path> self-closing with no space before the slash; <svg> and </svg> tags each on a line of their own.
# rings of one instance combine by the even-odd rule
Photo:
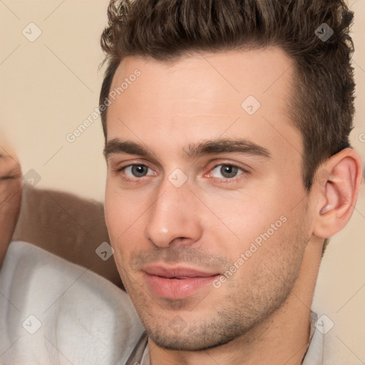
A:
<svg viewBox="0 0 365 365">
<path fill-rule="evenodd" d="M 106 149 L 106 222 L 153 365 L 303 359 L 323 241 L 351 217 L 361 159 L 349 148 L 332 156 L 307 194 L 302 138 L 287 105 L 291 63 L 270 47 L 169 64 L 128 57 L 115 73 L 111 89 L 141 72 L 108 107 L 107 141 L 140 143 L 153 155 Z M 241 108 L 250 95 L 261 103 L 253 115 Z M 249 140 L 271 157 L 184 157 L 188 144 L 217 138 Z M 246 171 L 227 176 L 231 164 Z M 181 187 L 168 179 L 175 169 L 186 175 Z M 186 299 L 165 299 L 145 281 L 142 269 L 157 263 L 223 274 L 282 216 L 286 222 L 218 289 L 209 284 Z M 184 324 L 178 330 L 176 320 Z"/>
</svg>

